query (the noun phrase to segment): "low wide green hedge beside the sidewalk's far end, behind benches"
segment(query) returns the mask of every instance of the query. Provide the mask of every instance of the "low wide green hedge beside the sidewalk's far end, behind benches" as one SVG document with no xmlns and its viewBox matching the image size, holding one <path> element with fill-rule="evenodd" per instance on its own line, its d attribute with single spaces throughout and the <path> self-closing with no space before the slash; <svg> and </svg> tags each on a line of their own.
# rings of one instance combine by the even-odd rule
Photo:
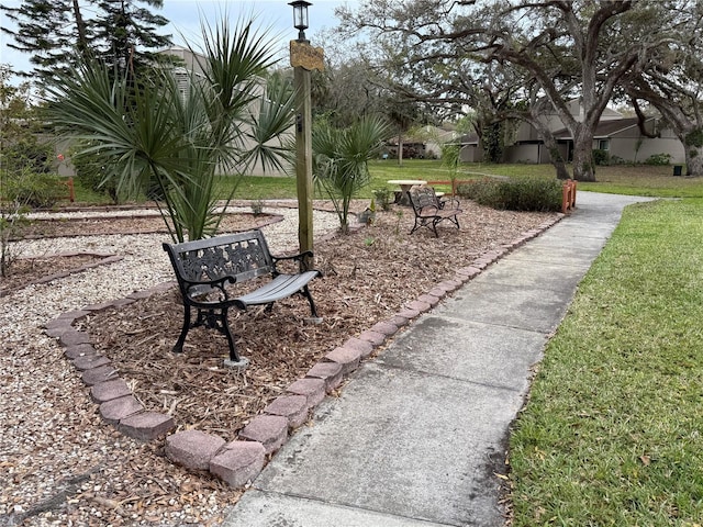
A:
<svg viewBox="0 0 703 527">
<path fill-rule="evenodd" d="M 496 181 L 484 179 L 460 184 L 459 195 L 480 205 L 509 211 L 551 212 L 561 210 L 561 182 L 555 179 Z"/>
</svg>

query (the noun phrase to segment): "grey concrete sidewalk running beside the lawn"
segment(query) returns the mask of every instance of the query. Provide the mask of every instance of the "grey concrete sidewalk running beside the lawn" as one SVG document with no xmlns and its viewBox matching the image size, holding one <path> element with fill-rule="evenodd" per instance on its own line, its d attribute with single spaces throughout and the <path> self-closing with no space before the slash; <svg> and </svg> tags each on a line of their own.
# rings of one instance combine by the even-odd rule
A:
<svg viewBox="0 0 703 527">
<path fill-rule="evenodd" d="M 636 201 L 580 192 L 571 216 L 421 316 L 317 407 L 223 525 L 502 526 L 495 474 L 529 368 Z"/>
</svg>

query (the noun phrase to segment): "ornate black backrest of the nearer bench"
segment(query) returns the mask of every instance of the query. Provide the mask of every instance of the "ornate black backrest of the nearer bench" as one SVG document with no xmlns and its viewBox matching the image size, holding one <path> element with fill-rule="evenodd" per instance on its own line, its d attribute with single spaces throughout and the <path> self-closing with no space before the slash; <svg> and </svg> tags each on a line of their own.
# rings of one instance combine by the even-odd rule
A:
<svg viewBox="0 0 703 527">
<path fill-rule="evenodd" d="M 179 282 L 181 279 L 190 283 L 208 282 L 225 277 L 246 281 L 274 271 L 271 254 L 260 231 L 164 244 L 164 250 Z"/>
</svg>

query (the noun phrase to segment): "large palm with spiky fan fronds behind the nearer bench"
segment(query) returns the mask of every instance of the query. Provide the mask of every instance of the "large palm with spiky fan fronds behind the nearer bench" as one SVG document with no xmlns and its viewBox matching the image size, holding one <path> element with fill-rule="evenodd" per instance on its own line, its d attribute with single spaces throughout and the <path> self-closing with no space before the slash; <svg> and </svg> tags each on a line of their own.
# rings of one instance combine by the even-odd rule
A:
<svg viewBox="0 0 703 527">
<path fill-rule="evenodd" d="M 203 74 L 191 74 L 186 90 L 168 68 L 155 68 L 135 89 L 98 63 L 47 90 L 49 121 L 85 145 L 76 155 L 104 167 L 118 192 L 155 189 L 174 242 L 216 233 L 219 172 L 241 176 L 254 162 L 281 169 L 290 157 L 293 93 L 278 77 L 264 86 L 276 49 L 252 24 L 231 30 L 224 18 L 214 29 L 202 25 Z"/>
</svg>

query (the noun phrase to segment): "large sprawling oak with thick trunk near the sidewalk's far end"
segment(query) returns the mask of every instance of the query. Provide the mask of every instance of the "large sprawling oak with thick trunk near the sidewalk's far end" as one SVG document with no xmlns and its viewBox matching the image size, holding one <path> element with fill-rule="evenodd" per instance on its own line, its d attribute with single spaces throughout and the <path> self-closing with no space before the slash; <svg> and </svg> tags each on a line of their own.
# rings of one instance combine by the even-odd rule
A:
<svg viewBox="0 0 703 527">
<path fill-rule="evenodd" d="M 615 89 L 683 38 L 698 11 L 694 0 L 365 0 L 338 14 L 382 49 L 404 93 L 473 108 L 487 123 L 518 117 L 543 136 L 540 119 L 556 114 L 573 139 L 573 176 L 593 180 L 593 131 Z"/>
</svg>

